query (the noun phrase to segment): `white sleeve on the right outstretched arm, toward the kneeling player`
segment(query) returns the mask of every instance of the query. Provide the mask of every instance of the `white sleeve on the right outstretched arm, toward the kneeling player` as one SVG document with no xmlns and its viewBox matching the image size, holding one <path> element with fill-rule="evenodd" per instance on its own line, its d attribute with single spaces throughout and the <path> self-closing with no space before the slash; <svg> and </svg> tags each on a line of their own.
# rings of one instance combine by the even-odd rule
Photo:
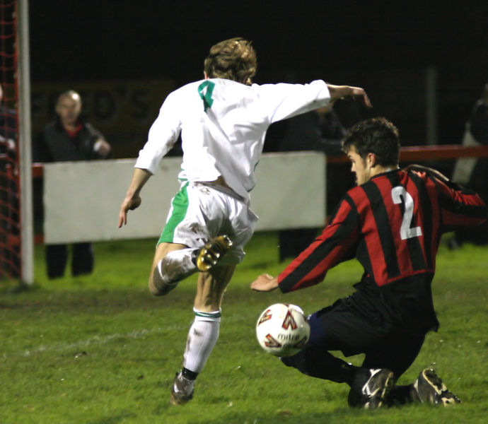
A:
<svg viewBox="0 0 488 424">
<path fill-rule="evenodd" d="M 309 84 L 265 84 L 259 86 L 258 95 L 271 124 L 318 109 L 330 102 L 329 89 L 322 80 Z"/>
</svg>

